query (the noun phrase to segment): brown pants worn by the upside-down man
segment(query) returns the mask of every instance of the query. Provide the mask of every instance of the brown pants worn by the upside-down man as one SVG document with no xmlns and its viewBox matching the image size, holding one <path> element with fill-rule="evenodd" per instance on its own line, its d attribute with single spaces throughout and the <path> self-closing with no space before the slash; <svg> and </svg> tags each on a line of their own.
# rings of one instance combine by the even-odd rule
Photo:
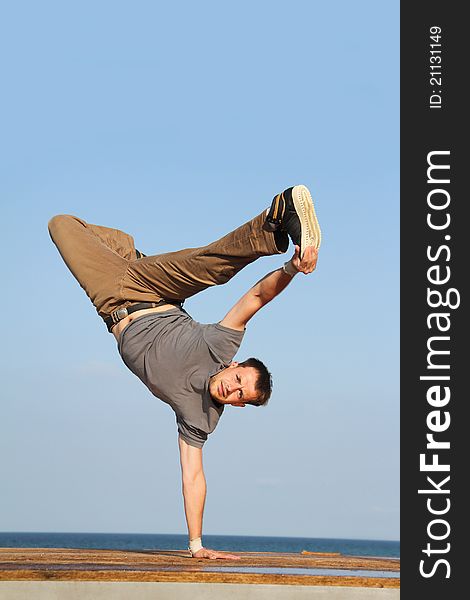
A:
<svg viewBox="0 0 470 600">
<path fill-rule="evenodd" d="M 265 212 L 201 248 L 137 258 L 133 238 L 58 215 L 49 232 L 65 264 L 103 319 L 139 302 L 182 301 L 212 285 L 226 283 L 260 256 L 287 250 L 285 233 L 265 231 Z"/>
</svg>

